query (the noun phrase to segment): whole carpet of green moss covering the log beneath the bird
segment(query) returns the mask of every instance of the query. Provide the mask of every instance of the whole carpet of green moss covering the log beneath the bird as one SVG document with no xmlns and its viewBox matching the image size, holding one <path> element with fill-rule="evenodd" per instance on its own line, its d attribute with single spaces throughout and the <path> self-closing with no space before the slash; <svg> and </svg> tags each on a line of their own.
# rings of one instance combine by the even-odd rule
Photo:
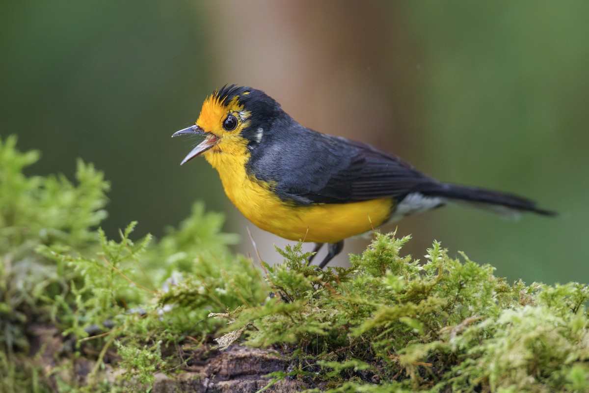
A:
<svg viewBox="0 0 589 393">
<path fill-rule="evenodd" d="M 589 391 L 587 285 L 509 284 L 379 233 L 349 269 L 307 266 L 296 245 L 260 270 L 201 204 L 163 239 L 131 239 L 131 223 L 112 240 L 102 173 L 24 176 L 38 153 L 15 143 L 0 140 L 2 392 L 145 391 L 214 338 L 277 349 L 289 366 L 270 384 L 309 391 Z"/>
</svg>

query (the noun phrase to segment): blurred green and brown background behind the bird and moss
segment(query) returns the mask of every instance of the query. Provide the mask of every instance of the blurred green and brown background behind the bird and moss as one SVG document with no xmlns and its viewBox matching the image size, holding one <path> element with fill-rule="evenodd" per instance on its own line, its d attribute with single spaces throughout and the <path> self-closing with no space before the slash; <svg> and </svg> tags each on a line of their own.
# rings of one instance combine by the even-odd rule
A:
<svg viewBox="0 0 589 393">
<path fill-rule="evenodd" d="M 170 139 L 237 83 L 307 127 L 560 213 L 438 209 L 385 228 L 413 235 L 406 253 L 437 239 L 509 280 L 589 282 L 587 1 L 8 1 L 0 21 L 2 138 L 42 151 L 29 174 L 72 178 L 77 157 L 104 170 L 112 237 L 131 220 L 161 236 L 201 199 L 279 261 L 285 242 L 240 216 L 204 160 L 180 167 L 190 141 Z M 237 250 L 255 255 L 247 235 Z"/>
</svg>

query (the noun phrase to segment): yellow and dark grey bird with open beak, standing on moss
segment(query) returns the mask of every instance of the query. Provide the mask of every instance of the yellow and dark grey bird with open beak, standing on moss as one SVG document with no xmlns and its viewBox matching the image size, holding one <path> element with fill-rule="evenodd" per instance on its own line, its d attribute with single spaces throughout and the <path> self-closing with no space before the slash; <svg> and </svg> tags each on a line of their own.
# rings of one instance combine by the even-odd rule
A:
<svg viewBox="0 0 589 393">
<path fill-rule="evenodd" d="M 443 183 L 369 144 L 311 130 L 250 87 L 215 90 L 196 123 L 172 136 L 180 135 L 204 136 L 181 164 L 204 156 L 250 222 L 284 239 L 315 243 L 309 263 L 327 244 L 319 269 L 348 237 L 452 202 L 510 216 L 554 214 L 514 194 Z"/>
</svg>

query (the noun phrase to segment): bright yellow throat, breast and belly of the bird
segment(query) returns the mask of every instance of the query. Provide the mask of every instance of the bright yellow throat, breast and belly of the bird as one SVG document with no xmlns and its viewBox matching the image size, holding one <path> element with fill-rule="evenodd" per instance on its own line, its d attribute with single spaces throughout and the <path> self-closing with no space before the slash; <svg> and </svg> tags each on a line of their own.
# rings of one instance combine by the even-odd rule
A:
<svg viewBox="0 0 589 393">
<path fill-rule="evenodd" d="M 207 161 L 221 177 L 227 197 L 252 223 L 289 240 L 336 243 L 367 232 L 387 220 L 392 199 L 375 199 L 342 204 L 299 206 L 280 200 L 271 184 L 246 173 L 249 154 L 233 155 L 215 148 L 207 151 Z M 223 157 L 231 154 L 233 157 Z"/>
</svg>

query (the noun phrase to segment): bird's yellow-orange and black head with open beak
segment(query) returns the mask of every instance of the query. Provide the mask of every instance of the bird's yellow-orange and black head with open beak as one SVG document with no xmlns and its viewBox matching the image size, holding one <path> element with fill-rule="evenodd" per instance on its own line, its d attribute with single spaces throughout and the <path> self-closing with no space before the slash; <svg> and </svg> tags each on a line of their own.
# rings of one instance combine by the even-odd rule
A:
<svg viewBox="0 0 589 393">
<path fill-rule="evenodd" d="M 249 156 L 249 150 L 260 144 L 264 131 L 281 114 L 280 105 L 263 91 L 226 85 L 204 100 L 194 126 L 173 134 L 205 136 L 181 164 L 201 154 L 207 161 L 218 153 Z"/>
</svg>

